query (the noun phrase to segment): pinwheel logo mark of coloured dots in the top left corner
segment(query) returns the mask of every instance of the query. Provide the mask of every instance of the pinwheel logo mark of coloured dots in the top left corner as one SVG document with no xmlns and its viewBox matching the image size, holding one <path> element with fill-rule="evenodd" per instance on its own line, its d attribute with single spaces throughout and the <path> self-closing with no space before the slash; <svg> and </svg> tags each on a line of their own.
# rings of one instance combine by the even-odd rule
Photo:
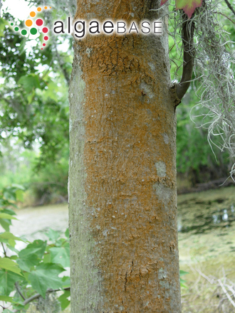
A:
<svg viewBox="0 0 235 313">
<path fill-rule="evenodd" d="M 44 10 L 48 10 L 48 9 L 51 9 L 51 6 L 44 6 L 43 8 Z M 36 18 L 36 14 L 38 12 L 41 12 L 42 11 L 42 8 L 39 6 L 37 9 L 36 9 L 37 12 L 35 11 L 31 11 L 29 16 L 30 18 L 28 18 L 26 21 L 25 21 L 25 25 L 27 27 L 27 29 L 19 29 L 18 26 L 15 26 L 14 27 L 14 31 L 21 31 L 21 35 L 23 36 L 26 36 L 28 33 L 31 33 L 31 35 L 36 35 L 36 33 L 38 33 L 38 29 L 34 26 L 38 26 L 41 28 L 41 26 L 43 26 L 43 19 L 41 18 Z M 36 21 L 33 21 L 31 18 L 36 18 Z M 35 23 L 36 25 L 33 25 L 33 23 Z M 11 23 L 11 26 L 14 26 L 14 23 Z M 29 29 L 28 29 L 29 28 Z M 48 28 L 47 27 L 43 27 L 41 29 L 41 31 L 43 32 L 43 34 L 45 35 L 43 37 L 44 41 L 48 41 L 49 37 L 46 36 L 46 33 L 48 33 Z M 44 42 L 43 43 L 43 47 L 46 46 L 46 43 Z M 41 48 L 41 50 L 43 50 L 43 48 Z"/>
</svg>

